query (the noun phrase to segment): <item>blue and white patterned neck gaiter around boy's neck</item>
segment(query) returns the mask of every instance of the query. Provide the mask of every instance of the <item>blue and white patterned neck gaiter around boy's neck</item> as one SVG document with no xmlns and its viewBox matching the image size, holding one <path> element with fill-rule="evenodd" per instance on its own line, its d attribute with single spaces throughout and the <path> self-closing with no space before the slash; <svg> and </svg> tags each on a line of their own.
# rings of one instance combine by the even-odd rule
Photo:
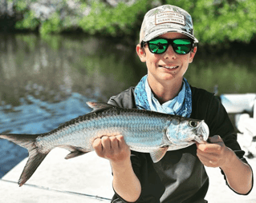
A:
<svg viewBox="0 0 256 203">
<path fill-rule="evenodd" d="M 135 102 L 138 109 L 147 109 L 182 117 L 190 117 L 192 112 L 192 94 L 189 83 L 185 78 L 183 78 L 182 89 L 177 97 L 162 105 L 152 94 L 147 79 L 148 75 L 141 78 L 134 90 Z"/>
</svg>

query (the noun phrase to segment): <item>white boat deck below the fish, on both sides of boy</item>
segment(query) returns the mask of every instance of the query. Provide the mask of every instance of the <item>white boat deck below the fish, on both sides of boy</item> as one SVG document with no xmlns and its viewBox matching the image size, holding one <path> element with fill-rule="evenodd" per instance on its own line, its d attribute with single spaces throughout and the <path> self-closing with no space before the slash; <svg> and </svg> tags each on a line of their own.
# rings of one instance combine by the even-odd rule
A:
<svg viewBox="0 0 256 203">
<path fill-rule="evenodd" d="M 35 174 L 22 187 L 18 177 L 26 159 L 10 170 L 0 180 L 1 200 L 8 203 L 73 203 L 110 202 L 112 173 L 107 160 L 97 157 L 95 152 L 65 160 L 69 153 L 65 149 L 54 149 L 49 153 Z M 256 158 L 248 159 L 256 170 Z M 256 188 L 248 196 L 241 196 L 226 186 L 220 169 L 207 168 L 209 192 L 205 199 L 209 203 L 255 203 Z"/>
</svg>

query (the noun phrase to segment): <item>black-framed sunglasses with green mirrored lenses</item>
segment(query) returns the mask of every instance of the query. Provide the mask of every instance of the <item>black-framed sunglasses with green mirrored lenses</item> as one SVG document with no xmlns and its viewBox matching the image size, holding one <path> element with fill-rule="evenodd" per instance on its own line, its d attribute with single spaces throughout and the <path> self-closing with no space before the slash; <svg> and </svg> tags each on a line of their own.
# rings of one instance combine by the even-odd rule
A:
<svg viewBox="0 0 256 203">
<path fill-rule="evenodd" d="M 163 54 L 168 49 L 169 45 L 177 54 L 189 54 L 194 46 L 193 39 L 190 38 L 154 38 L 148 42 L 141 42 L 141 46 L 148 44 L 148 49 L 152 54 Z"/>
</svg>

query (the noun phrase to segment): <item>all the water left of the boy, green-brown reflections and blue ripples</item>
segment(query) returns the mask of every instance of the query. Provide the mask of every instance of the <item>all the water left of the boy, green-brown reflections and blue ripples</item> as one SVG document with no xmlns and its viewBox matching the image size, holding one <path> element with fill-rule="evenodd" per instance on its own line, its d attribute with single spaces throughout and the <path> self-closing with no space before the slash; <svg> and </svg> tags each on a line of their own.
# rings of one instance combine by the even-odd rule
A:
<svg viewBox="0 0 256 203">
<path fill-rule="evenodd" d="M 89 112 L 88 100 L 106 102 L 140 79 L 129 52 L 108 40 L 0 38 L 1 133 L 45 133 Z M 27 156 L 26 149 L 4 140 L 0 154 L 0 177 Z"/>
</svg>

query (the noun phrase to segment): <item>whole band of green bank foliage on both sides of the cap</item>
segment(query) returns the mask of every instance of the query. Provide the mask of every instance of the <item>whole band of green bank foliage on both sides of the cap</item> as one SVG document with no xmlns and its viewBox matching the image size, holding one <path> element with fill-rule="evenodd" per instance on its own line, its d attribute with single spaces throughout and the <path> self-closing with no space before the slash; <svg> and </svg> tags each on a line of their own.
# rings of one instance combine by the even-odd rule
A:
<svg viewBox="0 0 256 203">
<path fill-rule="evenodd" d="M 51 2 L 52 1 L 52 2 Z M 81 29 L 88 34 L 138 38 L 144 14 L 162 4 L 173 4 L 187 10 L 193 17 L 194 33 L 201 44 L 228 46 L 229 42 L 249 43 L 256 33 L 255 0 L 136 0 L 119 2 L 116 6 L 104 0 L 54 1 L 53 12 L 39 18 L 30 10 L 40 0 L 16 0 L 15 9 L 23 14 L 18 29 L 35 30 L 41 34 Z M 74 2 L 76 6 L 70 7 Z"/>
</svg>

